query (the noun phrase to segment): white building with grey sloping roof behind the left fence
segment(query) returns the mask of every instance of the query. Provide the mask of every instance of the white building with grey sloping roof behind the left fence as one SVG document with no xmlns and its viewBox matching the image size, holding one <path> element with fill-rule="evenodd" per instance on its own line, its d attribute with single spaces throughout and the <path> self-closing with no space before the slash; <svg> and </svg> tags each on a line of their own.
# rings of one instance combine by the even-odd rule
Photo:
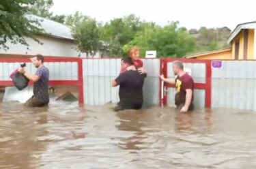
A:
<svg viewBox="0 0 256 169">
<path fill-rule="evenodd" d="M 63 25 L 53 20 L 41 18 L 39 16 L 28 15 L 31 20 L 38 20 L 41 29 L 46 34 L 35 35 L 35 38 L 42 44 L 39 44 L 31 38 L 26 38 L 29 47 L 23 44 L 12 44 L 7 42 L 8 50 L 0 48 L 0 54 L 13 54 L 13 55 L 37 55 L 52 57 L 86 57 L 85 53 L 81 53 L 76 49 L 76 42 L 72 37 L 70 27 Z M 101 57 L 100 52 L 97 52 L 95 58 Z"/>
</svg>

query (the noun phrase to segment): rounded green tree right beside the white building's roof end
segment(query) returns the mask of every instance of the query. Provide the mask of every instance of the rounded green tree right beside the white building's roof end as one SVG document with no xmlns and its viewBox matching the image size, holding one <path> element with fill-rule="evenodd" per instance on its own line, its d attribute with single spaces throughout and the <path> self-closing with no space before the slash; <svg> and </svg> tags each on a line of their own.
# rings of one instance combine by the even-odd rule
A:
<svg viewBox="0 0 256 169">
<path fill-rule="evenodd" d="M 81 52 L 94 56 L 100 48 L 100 33 L 99 25 L 95 19 L 87 18 L 77 22 L 75 27 L 72 27 L 74 39 L 78 43 L 78 48 Z"/>
</svg>

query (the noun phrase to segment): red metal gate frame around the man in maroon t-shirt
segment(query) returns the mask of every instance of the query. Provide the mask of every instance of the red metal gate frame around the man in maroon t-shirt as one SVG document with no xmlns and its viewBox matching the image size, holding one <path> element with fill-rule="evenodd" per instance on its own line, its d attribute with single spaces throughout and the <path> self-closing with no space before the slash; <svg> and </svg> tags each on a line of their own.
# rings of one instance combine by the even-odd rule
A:
<svg viewBox="0 0 256 169">
<path fill-rule="evenodd" d="M 182 61 L 183 63 L 205 63 L 205 83 L 195 83 L 195 89 L 205 90 L 205 108 L 211 108 L 212 104 L 212 61 L 203 60 L 203 59 L 160 59 L 160 74 L 164 74 L 165 77 L 168 77 L 167 74 L 167 63 L 173 61 Z M 160 80 L 160 84 L 162 84 Z M 167 88 L 175 87 L 175 85 L 163 83 L 160 85 L 159 89 L 159 98 L 160 106 L 167 106 Z"/>
</svg>

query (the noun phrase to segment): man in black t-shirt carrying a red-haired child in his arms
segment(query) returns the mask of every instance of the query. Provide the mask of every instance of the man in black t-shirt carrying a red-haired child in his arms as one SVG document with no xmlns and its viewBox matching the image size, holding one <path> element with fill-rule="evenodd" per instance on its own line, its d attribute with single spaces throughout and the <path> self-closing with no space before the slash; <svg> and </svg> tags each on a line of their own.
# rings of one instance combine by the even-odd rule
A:
<svg viewBox="0 0 256 169">
<path fill-rule="evenodd" d="M 133 65 L 130 57 L 122 59 L 123 66 Z M 136 70 L 129 70 L 120 74 L 112 82 L 113 87 L 119 87 L 120 102 L 115 110 L 141 109 L 143 105 L 143 84 L 145 74 L 139 74 Z"/>
</svg>

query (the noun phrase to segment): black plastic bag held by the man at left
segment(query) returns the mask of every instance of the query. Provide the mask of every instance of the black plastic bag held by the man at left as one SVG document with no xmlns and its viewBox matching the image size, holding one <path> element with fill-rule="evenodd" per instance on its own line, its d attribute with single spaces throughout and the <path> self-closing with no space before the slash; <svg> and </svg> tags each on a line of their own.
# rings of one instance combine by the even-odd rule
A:
<svg viewBox="0 0 256 169">
<path fill-rule="evenodd" d="M 20 65 L 20 67 L 25 67 L 25 66 L 26 66 L 26 63 L 23 63 Z M 24 76 L 24 74 L 20 74 L 18 70 L 15 70 L 14 72 L 12 72 L 12 74 L 10 75 L 10 78 L 12 78 L 12 82 L 14 82 L 14 86 L 20 91 L 25 89 L 29 84 L 29 79 L 26 76 Z"/>
</svg>

